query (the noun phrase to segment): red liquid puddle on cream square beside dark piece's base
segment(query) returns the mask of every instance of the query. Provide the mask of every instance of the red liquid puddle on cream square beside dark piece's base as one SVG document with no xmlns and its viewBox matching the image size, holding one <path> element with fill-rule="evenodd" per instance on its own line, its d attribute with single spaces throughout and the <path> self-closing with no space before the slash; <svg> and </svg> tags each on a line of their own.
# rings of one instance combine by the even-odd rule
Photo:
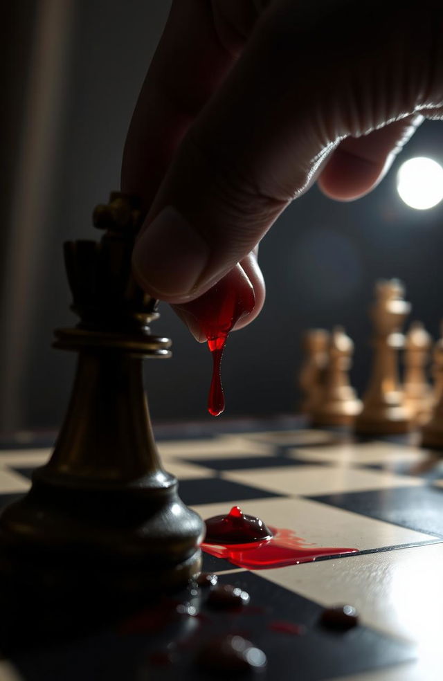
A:
<svg viewBox="0 0 443 681">
<path fill-rule="evenodd" d="M 248 520 L 249 518 L 252 518 L 254 523 Z M 264 537 L 253 538 L 251 528 L 259 526 L 264 528 L 262 530 L 264 533 L 271 532 L 271 536 L 265 534 Z M 209 518 L 206 520 L 206 527 L 208 534 L 201 548 L 211 556 L 223 558 L 248 570 L 310 563 L 320 556 L 339 556 L 359 551 L 316 546 L 298 537 L 291 529 L 267 528 L 259 518 L 244 516 L 238 507 L 234 507 L 228 516 Z"/>
</svg>

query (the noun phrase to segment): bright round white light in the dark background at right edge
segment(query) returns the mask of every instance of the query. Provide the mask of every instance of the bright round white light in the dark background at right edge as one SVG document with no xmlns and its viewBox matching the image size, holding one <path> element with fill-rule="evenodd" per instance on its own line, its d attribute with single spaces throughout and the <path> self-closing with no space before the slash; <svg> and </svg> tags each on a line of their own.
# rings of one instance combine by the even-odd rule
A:
<svg viewBox="0 0 443 681">
<path fill-rule="evenodd" d="M 410 208 L 426 210 L 443 199 L 443 168 L 432 158 L 409 158 L 397 174 L 397 192 Z"/>
</svg>

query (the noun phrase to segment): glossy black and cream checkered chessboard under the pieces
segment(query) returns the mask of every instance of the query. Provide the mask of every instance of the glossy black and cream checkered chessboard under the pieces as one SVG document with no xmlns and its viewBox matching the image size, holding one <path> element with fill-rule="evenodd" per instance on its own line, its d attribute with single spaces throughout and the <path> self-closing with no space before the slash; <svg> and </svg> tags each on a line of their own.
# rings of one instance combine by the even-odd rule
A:
<svg viewBox="0 0 443 681">
<path fill-rule="evenodd" d="M 172 624 L 142 610 L 87 635 L 17 648 L 0 661 L 1 681 L 237 678 L 196 664 L 205 642 L 229 633 L 264 652 L 256 676 L 266 681 L 440 679 L 443 460 L 413 435 L 356 440 L 345 429 L 252 422 L 217 430 L 156 433 L 165 469 L 202 518 L 239 505 L 307 543 L 358 552 L 255 571 L 204 554 L 203 569 L 246 590 L 247 606 L 214 612 L 190 590 Z M 1 507 L 28 490 L 49 454 L 3 448 Z M 324 609 L 345 604 L 359 624 L 325 628 Z"/>
</svg>

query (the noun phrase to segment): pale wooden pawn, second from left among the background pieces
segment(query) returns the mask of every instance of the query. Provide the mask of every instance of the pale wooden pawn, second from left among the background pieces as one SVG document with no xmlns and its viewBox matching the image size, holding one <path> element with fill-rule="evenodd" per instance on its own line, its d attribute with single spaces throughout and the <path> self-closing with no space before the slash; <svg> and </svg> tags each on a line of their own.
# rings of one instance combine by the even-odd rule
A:
<svg viewBox="0 0 443 681">
<path fill-rule="evenodd" d="M 343 327 L 335 327 L 329 341 L 325 384 L 314 409 L 314 425 L 348 426 L 361 411 L 361 401 L 348 379 L 353 350 L 354 343 Z"/>
</svg>

